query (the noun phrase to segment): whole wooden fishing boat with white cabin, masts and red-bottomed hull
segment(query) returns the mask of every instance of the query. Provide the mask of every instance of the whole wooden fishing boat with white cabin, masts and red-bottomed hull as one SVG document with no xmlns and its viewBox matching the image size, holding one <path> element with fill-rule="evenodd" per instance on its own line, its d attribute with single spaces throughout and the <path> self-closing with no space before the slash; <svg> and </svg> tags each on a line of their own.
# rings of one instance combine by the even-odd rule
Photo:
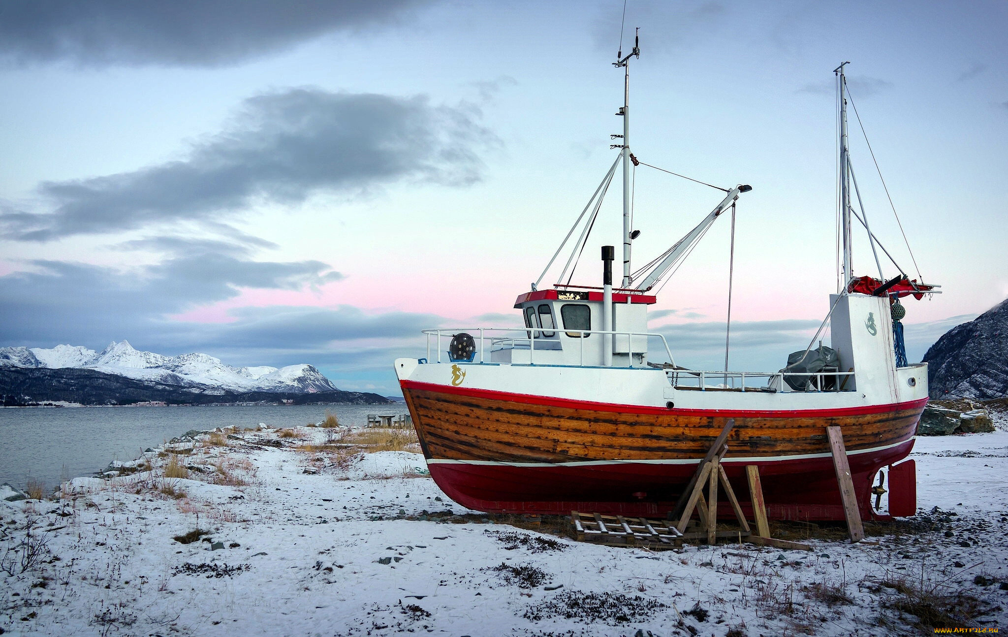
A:
<svg viewBox="0 0 1008 637">
<path fill-rule="evenodd" d="M 639 56 L 636 45 L 616 62 L 627 87 L 633 56 Z M 625 90 L 618 113 L 624 131 L 614 145 L 619 157 L 539 281 L 517 297 L 514 307 L 521 310 L 524 326 L 427 330 L 426 358 L 395 361 L 430 475 L 445 493 L 487 512 L 662 515 L 674 507 L 732 418 L 722 465 L 729 480 L 738 483 L 733 485 L 737 494 L 748 493 L 745 467 L 760 468 L 771 518 L 844 519 L 826 431 L 830 425 L 843 431 L 862 517 L 915 512 L 913 462 L 897 463 L 913 448 L 927 402 L 927 368 L 900 358 L 898 298 L 936 290 L 910 280 L 895 262 L 898 275 L 886 280 L 877 258 L 878 279 L 853 274 L 852 216 L 868 231 L 873 252 L 877 239 L 863 208 L 858 215 L 851 206 L 843 65 L 836 74 L 843 278 L 808 348 L 775 372 L 698 371 L 676 365 L 665 338 L 647 332 L 655 284 L 718 217 L 731 211 L 734 218 L 736 201 L 751 188 L 721 188 L 727 196 L 700 225 L 644 268 L 631 271 L 636 233 L 630 227 L 628 173 L 637 159 L 630 153 Z M 604 246 L 602 285 L 572 285 L 568 273 L 621 163 L 622 283 L 613 287 L 615 251 Z M 579 228 L 579 238 L 570 243 Z M 556 279 L 561 282 L 539 289 L 564 245 L 573 248 Z M 828 324 L 832 347 L 813 349 Z M 883 511 L 873 506 L 872 495 L 885 489 L 873 479 L 886 467 L 889 496 Z M 743 503 L 743 509 L 747 506 Z"/>
</svg>

